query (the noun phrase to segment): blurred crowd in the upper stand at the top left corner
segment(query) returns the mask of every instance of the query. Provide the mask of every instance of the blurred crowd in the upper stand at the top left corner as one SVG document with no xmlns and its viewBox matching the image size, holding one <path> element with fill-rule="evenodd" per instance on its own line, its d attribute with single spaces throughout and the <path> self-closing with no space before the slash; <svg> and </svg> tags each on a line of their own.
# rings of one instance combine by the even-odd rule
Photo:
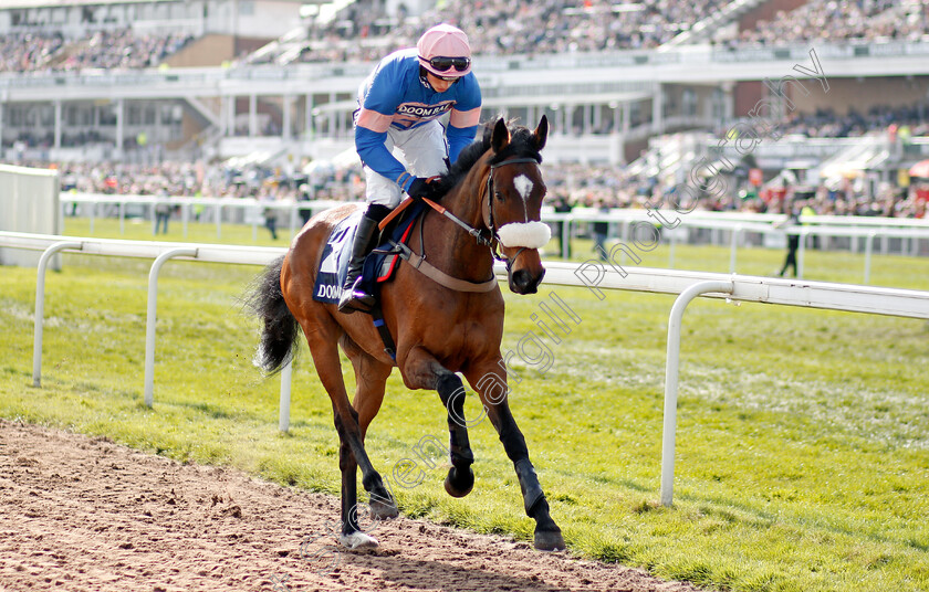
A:
<svg viewBox="0 0 929 592">
<path fill-rule="evenodd" d="M 150 67 L 192 40 L 184 32 L 147 34 L 132 29 L 93 31 L 71 40 L 60 33 L 12 33 L 0 36 L 0 72 Z"/>
</svg>

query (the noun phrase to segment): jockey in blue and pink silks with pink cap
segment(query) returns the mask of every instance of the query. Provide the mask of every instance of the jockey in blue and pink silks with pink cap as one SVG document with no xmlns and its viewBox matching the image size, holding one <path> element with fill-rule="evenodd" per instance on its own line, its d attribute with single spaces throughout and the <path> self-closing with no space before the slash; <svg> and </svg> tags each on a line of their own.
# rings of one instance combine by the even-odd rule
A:
<svg viewBox="0 0 929 592">
<path fill-rule="evenodd" d="M 439 118 L 449 114 L 448 124 Z M 400 203 L 438 198 L 430 178 L 448 170 L 474 139 L 481 91 L 471 72 L 463 31 L 439 24 L 415 49 L 384 57 L 358 89 L 355 149 L 367 183 L 367 209 L 358 223 L 338 310 L 368 310 L 374 297 L 361 289 L 362 266 L 377 224 Z"/>
</svg>

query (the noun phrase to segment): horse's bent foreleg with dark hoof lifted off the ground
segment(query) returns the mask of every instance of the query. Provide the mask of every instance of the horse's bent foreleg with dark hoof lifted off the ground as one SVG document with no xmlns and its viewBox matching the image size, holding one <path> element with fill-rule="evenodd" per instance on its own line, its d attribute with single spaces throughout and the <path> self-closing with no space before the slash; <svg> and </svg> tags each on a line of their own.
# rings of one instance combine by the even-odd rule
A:
<svg viewBox="0 0 929 592">
<path fill-rule="evenodd" d="M 438 362 L 424 349 L 409 353 L 404 379 L 410 389 L 434 389 L 448 412 L 449 456 L 451 468 L 445 480 L 452 497 L 464 497 L 474 486 L 474 454 L 464 420 L 464 384 L 455 372 Z"/>
</svg>

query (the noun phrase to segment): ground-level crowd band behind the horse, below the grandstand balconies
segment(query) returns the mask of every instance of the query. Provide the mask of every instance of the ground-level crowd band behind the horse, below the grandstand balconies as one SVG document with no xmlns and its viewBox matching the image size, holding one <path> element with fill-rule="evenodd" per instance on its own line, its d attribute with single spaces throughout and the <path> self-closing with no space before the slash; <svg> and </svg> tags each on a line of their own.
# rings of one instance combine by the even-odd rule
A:
<svg viewBox="0 0 929 592">
<path fill-rule="evenodd" d="M 32 163 L 49 166 L 48 163 Z M 254 198 L 259 200 L 363 201 L 364 182 L 358 165 L 346 168 L 304 168 L 236 165 L 234 162 L 62 163 L 63 192 L 205 198 Z M 839 183 L 751 188 L 745 179 L 732 178 L 726 193 L 704 193 L 698 210 L 786 213 L 802 200 L 816 213 L 923 218 L 929 200 L 929 180 L 910 188 L 883 183 L 866 190 L 860 180 Z M 560 162 L 545 167 L 546 203 L 567 208 L 655 208 L 674 202 L 675 187 L 657 177 L 635 176 L 627 169 Z M 748 190 L 747 190 L 748 189 Z"/>
</svg>

